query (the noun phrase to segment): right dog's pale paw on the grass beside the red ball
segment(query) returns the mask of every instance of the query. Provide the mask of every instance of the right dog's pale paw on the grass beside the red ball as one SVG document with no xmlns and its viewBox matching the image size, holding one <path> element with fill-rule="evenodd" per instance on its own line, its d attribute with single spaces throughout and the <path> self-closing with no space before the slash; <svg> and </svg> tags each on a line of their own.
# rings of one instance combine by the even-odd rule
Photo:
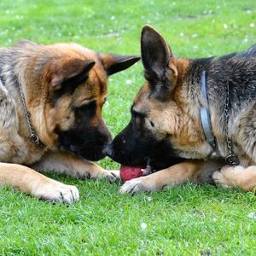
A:
<svg viewBox="0 0 256 256">
<path fill-rule="evenodd" d="M 153 187 L 149 186 L 145 182 L 145 177 L 137 177 L 125 182 L 124 185 L 119 189 L 119 193 L 134 195 L 138 192 L 149 192 L 153 190 Z"/>
</svg>

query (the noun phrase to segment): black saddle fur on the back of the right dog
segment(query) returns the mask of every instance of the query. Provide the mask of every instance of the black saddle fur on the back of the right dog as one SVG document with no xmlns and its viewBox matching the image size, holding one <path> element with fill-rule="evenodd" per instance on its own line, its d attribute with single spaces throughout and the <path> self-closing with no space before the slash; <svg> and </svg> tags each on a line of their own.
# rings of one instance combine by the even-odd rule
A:
<svg viewBox="0 0 256 256">
<path fill-rule="evenodd" d="M 201 72 L 207 71 L 209 102 L 223 102 L 218 105 L 224 111 L 225 88 L 230 88 L 230 108 L 241 109 L 245 102 L 256 97 L 256 46 L 242 53 L 232 53 L 219 58 L 195 59 L 188 72 L 189 90 L 200 84 Z"/>
</svg>

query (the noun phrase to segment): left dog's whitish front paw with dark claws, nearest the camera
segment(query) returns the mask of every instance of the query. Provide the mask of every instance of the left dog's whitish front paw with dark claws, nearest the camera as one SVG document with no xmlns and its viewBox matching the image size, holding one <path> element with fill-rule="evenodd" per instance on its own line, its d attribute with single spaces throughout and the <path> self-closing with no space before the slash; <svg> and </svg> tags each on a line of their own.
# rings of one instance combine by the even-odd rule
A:
<svg viewBox="0 0 256 256">
<path fill-rule="evenodd" d="M 43 200 L 63 202 L 65 204 L 79 201 L 79 189 L 77 187 L 59 182 L 46 183 L 36 189 L 33 195 Z"/>
</svg>

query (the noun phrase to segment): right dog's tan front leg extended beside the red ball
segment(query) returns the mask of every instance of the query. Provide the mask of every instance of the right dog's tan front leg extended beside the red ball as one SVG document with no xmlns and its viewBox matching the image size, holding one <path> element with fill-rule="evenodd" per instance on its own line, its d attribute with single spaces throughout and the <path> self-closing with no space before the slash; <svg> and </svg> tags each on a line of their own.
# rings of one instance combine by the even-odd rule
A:
<svg viewBox="0 0 256 256">
<path fill-rule="evenodd" d="M 172 188 L 188 180 L 196 179 L 202 166 L 203 162 L 201 161 L 186 161 L 145 177 L 131 179 L 125 182 L 119 192 L 135 194 L 140 191 L 158 191 L 166 187 Z"/>
</svg>

